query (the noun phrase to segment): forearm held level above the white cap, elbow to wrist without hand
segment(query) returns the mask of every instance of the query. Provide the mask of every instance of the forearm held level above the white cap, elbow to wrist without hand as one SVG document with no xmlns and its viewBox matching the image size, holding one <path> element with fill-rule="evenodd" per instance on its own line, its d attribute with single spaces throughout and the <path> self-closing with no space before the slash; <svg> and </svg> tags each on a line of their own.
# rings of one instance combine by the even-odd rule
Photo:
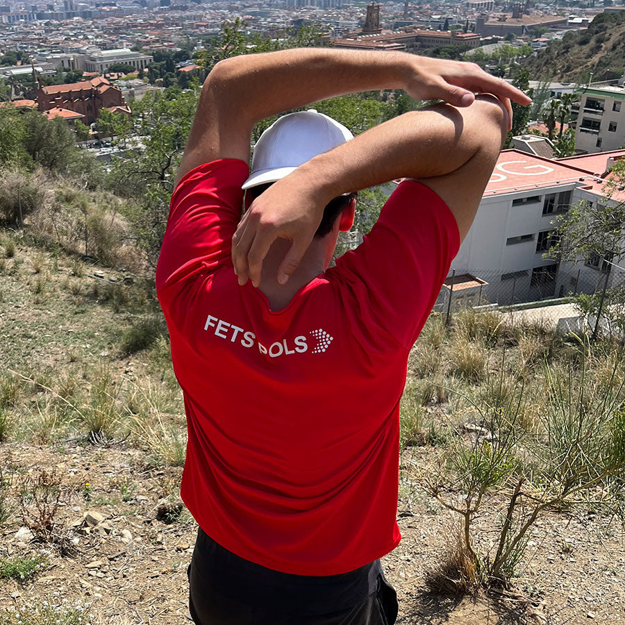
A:
<svg viewBox="0 0 625 625">
<path fill-rule="evenodd" d="M 329 97 L 406 88 L 415 56 L 401 52 L 298 48 L 219 62 L 206 85 L 251 122 Z M 211 83 L 212 81 L 212 83 Z"/>
</svg>

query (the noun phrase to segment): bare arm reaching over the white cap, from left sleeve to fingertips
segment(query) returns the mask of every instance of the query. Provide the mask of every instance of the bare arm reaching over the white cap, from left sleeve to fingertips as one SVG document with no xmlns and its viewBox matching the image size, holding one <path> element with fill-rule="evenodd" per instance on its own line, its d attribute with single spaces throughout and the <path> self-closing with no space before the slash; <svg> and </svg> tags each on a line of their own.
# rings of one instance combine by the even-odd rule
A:
<svg viewBox="0 0 625 625">
<path fill-rule="evenodd" d="M 176 183 L 217 158 L 249 160 L 251 131 L 260 119 L 379 89 L 403 89 L 417 100 L 442 99 L 455 106 L 469 106 L 475 92 L 529 102 L 473 63 L 409 53 L 303 48 L 228 58 L 215 65 L 203 85 Z"/>
</svg>

